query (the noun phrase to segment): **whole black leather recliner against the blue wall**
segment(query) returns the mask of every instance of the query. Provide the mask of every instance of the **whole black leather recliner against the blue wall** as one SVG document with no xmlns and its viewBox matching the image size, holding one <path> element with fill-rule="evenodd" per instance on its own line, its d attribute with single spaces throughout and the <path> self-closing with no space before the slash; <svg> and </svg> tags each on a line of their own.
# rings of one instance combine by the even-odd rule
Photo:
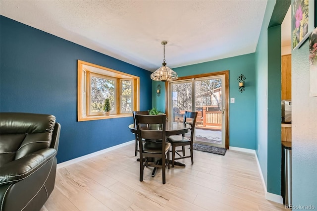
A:
<svg viewBox="0 0 317 211">
<path fill-rule="evenodd" d="M 55 116 L 0 113 L 0 211 L 39 211 L 56 175 Z"/>
</svg>

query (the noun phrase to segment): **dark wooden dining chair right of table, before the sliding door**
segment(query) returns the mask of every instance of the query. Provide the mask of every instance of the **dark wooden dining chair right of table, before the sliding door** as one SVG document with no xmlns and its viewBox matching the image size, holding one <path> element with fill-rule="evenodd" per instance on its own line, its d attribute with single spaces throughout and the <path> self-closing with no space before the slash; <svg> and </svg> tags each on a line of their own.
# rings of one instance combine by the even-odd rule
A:
<svg viewBox="0 0 317 211">
<path fill-rule="evenodd" d="M 196 119 L 197 119 L 197 112 L 190 112 L 190 111 L 185 111 L 184 114 L 184 124 L 190 124 L 192 126 L 191 133 L 190 133 L 190 139 L 185 137 L 185 134 L 179 136 L 179 135 L 174 135 L 174 136 L 169 136 L 167 141 L 171 143 L 172 146 L 172 167 L 174 167 L 175 160 L 177 159 L 183 159 L 183 158 L 191 158 L 192 163 L 194 163 L 194 158 L 193 158 L 193 140 L 194 140 L 194 130 L 195 130 L 195 125 L 196 125 Z M 190 146 L 190 156 L 185 155 L 185 146 Z M 177 150 L 176 147 L 182 147 L 182 150 Z M 182 152 L 182 156 L 178 153 Z M 179 156 L 179 158 L 175 158 L 175 154 Z"/>
</svg>

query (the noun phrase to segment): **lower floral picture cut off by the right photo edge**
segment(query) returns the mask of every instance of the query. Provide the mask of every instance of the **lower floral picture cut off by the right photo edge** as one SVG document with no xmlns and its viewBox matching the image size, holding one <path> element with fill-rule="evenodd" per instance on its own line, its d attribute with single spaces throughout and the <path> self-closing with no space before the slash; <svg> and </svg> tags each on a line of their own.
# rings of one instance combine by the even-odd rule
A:
<svg viewBox="0 0 317 211">
<path fill-rule="evenodd" d="M 309 96 L 317 97 L 317 28 L 309 38 Z"/>
</svg>

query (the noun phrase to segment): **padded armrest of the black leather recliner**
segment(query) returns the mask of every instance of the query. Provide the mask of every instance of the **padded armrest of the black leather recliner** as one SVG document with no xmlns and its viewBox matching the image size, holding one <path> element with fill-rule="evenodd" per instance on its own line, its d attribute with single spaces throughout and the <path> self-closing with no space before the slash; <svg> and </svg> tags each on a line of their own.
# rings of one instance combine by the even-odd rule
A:
<svg viewBox="0 0 317 211">
<path fill-rule="evenodd" d="M 2 165 L 0 167 L 0 185 L 15 183 L 30 176 L 55 155 L 55 149 L 42 149 Z"/>
</svg>

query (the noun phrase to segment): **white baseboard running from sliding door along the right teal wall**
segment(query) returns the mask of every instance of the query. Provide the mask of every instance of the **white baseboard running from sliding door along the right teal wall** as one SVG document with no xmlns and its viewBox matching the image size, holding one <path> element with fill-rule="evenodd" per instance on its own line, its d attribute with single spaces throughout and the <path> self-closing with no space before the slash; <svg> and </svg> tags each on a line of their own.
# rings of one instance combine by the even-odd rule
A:
<svg viewBox="0 0 317 211">
<path fill-rule="evenodd" d="M 258 169 L 259 169 L 259 173 L 260 173 L 260 177 L 261 177 L 261 181 L 262 181 L 262 185 L 263 185 L 265 199 L 269 200 L 269 201 L 272 201 L 272 202 L 279 203 L 279 204 L 283 204 L 283 197 L 282 196 L 267 192 L 266 184 L 264 182 L 264 177 L 263 177 L 263 173 L 262 173 L 262 169 L 261 169 L 260 162 L 259 162 L 258 156 L 256 154 L 256 151 L 255 150 L 250 150 L 250 149 L 245 149 L 245 148 L 239 148 L 239 147 L 229 147 L 229 150 L 234 150 L 234 151 L 254 154 L 255 157 L 256 157 L 256 160 L 257 160 L 257 165 L 258 165 Z"/>
</svg>

